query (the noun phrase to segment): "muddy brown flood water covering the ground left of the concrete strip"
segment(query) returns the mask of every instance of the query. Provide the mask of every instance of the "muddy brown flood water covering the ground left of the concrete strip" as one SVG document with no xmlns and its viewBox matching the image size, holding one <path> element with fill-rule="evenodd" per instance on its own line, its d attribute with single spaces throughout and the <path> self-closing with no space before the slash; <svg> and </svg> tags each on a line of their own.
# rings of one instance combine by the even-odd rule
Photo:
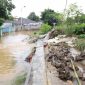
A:
<svg viewBox="0 0 85 85">
<path fill-rule="evenodd" d="M 11 82 L 17 75 L 30 68 L 25 58 L 32 45 L 28 44 L 26 38 L 29 36 L 17 33 L 0 40 L 0 85 L 12 85 Z"/>
</svg>

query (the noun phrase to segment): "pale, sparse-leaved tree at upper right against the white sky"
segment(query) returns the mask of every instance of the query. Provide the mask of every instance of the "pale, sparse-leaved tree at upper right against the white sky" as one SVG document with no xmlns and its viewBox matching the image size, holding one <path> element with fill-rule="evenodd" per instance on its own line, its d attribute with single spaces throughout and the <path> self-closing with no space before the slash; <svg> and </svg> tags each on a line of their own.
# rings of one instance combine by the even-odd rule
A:
<svg viewBox="0 0 85 85">
<path fill-rule="evenodd" d="M 76 5 L 76 3 L 71 4 L 66 10 L 66 23 L 69 25 L 79 22 L 79 17 L 82 14 L 81 9 Z"/>
</svg>

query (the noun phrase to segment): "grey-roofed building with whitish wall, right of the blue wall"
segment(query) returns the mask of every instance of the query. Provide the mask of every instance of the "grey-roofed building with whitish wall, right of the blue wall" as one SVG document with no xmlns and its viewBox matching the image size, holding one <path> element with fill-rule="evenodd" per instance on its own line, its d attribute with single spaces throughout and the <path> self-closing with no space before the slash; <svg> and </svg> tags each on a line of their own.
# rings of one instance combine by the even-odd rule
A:
<svg viewBox="0 0 85 85">
<path fill-rule="evenodd" d="M 18 18 L 13 21 L 16 30 L 40 29 L 41 25 L 42 21 L 36 22 L 25 18 Z"/>
</svg>

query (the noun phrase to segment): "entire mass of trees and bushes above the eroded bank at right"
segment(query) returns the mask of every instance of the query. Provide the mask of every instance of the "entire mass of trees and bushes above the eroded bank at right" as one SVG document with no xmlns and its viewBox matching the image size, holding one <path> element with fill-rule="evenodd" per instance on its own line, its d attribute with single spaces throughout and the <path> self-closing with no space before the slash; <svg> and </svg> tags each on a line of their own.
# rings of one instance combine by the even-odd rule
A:
<svg viewBox="0 0 85 85">
<path fill-rule="evenodd" d="M 46 9 L 41 14 L 44 24 L 41 26 L 41 33 L 45 34 L 55 28 L 59 34 L 76 36 L 75 47 L 79 50 L 85 49 L 85 14 L 74 3 L 64 13 L 58 13 Z"/>
</svg>

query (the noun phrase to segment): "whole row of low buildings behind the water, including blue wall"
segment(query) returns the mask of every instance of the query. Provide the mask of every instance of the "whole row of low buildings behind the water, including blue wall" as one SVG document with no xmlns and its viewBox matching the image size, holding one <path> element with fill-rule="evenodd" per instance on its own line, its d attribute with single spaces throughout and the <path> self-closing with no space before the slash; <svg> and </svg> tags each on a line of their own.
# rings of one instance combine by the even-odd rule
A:
<svg viewBox="0 0 85 85">
<path fill-rule="evenodd" d="M 0 27 L 0 35 L 20 30 L 40 29 L 42 21 L 35 22 L 30 19 L 17 18 L 14 21 L 6 20 Z M 21 27 L 22 26 L 22 27 Z"/>
</svg>

